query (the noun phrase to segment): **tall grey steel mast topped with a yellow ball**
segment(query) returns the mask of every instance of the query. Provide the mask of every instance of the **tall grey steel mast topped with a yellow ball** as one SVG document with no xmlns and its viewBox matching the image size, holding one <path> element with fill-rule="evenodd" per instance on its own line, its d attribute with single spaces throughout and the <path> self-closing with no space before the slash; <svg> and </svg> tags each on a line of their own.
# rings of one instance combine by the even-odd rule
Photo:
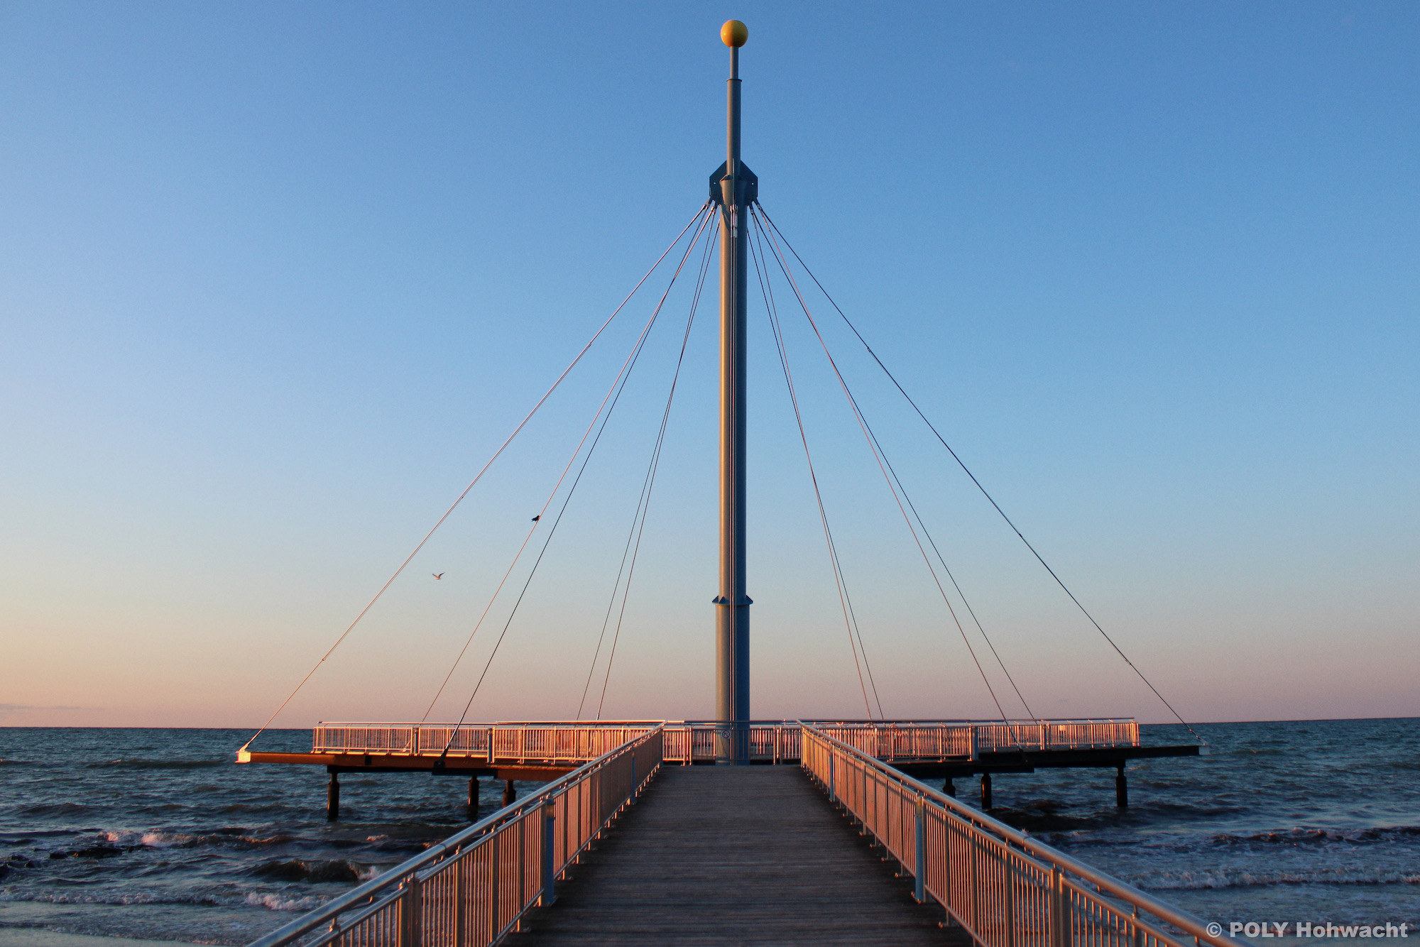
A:
<svg viewBox="0 0 1420 947">
<path fill-rule="evenodd" d="M 730 47 L 726 162 L 710 175 L 720 209 L 720 593 L 716 606 L 716 755 L 750 761 L 750 596 L 744 593 L 744 335 L 747 207 L 760 180 L 740 160 L 740 47 L 750 30 L 720 27 Z"/>
</svg>

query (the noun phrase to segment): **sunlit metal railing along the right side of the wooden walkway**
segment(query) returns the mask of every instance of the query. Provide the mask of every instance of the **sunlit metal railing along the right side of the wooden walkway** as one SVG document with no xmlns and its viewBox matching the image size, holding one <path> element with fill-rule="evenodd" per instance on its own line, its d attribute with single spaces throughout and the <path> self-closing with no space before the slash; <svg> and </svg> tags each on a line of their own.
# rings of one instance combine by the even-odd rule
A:
<svg viewBox="0 0 1420 947">
<path fill-rule="evenodd" d="M 1247 947 L 802 724 L 802 767 L 984 947 Z"/>
</svg>

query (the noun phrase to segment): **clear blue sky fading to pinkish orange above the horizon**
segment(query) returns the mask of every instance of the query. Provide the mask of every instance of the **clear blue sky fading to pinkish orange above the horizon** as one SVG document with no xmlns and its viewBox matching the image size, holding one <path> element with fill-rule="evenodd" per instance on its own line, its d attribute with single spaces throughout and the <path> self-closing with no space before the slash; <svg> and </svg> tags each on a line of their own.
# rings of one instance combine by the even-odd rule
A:
<svg viewBox="0 0 1420 947">
<path fill-rule="evenodd" d="M 1420 714 L 1420 7 L 0 3 L 0 723 L 264 720 L 704 200 L 731 16 L 764 206 L 1174 706 Z M 278 724 L 425 713 L 649 300 Z M 809 302 L 1035 713 L 1167 718 Z M 575 711 L 686 311 L 474 718 Z M 701 317 L 608 716 L 713 708 Z M 994 716 L 784 317 L 885 710 Z M 754 708 L 862 716 L 751 318 Z"/>
</svg>

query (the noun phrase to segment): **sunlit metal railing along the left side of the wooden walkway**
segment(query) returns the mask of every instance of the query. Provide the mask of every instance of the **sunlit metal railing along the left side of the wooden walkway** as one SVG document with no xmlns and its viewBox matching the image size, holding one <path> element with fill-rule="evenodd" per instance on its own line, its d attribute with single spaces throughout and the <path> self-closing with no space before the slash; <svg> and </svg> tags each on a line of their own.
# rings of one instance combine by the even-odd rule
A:
<svg viewBox="0 0 1420 947">
<path fill-rule="evenodd" d="M 662 735 L 652 726 L 251 947 L 496 944 L 656 775 Z"/>
</svg>

